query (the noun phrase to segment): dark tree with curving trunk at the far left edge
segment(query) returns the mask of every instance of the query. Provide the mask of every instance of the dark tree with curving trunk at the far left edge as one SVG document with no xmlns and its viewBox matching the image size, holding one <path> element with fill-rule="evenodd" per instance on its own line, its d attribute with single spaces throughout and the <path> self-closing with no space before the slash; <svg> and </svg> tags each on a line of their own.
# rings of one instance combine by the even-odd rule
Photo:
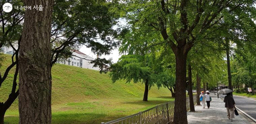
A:
<svg viewBox="0 0 256 124">
<path fill-rule="evenodd" d="M 3 6 L 6 3 L 6 0 L 0 2 L 0 6 Z M 12 5 L 23 5 L 20 0 L 11 0 Z M 0 72 L 0 88 L 3 83 L 5 83 L 6 78 L 12 68 L 16 68 L 13 75 L 12 80 L 12 88 L 8 96 L 4 102 L 0 101 L 0 124 L 4 123 L 4 114 L 6 110 L 11 106 L 13 101 L 18 97 L 19 90 L 17 90 L 17 76 L 19 72 L 19 44 L 21 41 L 21 32 L 23 27 L 24 20 L 24 11 L 20 11 L 17 9 L 13 9 L 11 12 L 4 12 L 2 9 L 0 10 L 0 47 L 8 46 L 13 48 L 13 55 L 11 57 L 12 62 L 5 69 L 4 73 Z M 14 48 L 14 44 L 18 44 L 18 48 Z M 2 58 L 2 53 L 0 53 L 0 58 Z"/>
</svg>

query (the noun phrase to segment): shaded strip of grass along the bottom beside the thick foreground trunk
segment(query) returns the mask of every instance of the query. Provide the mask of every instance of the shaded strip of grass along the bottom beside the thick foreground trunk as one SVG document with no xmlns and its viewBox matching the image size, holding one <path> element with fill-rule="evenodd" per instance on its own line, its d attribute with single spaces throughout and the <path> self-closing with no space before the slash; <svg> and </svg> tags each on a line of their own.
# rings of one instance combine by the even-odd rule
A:
<svg viewBox="0 0 256 124">
<path fill-rule="evenodd" d="M 56 112 L 52 114 L 52 124 L 100 124 L 101 122 L 113 121 L 127 115 L 94 114 L 94 113 L 67 113 Z M 7 116 L 4 124 L 19 124 L 18 116 Z"/>
</svg>

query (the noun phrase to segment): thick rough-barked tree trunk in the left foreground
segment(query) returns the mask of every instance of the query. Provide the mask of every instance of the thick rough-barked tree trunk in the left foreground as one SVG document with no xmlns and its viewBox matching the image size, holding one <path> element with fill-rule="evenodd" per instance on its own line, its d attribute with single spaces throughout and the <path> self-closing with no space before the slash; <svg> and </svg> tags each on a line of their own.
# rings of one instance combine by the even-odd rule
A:
<svg viewBox="0 0 256 124">
<path fill-rule="evenodd" d="M 19 55 L 20 124 L 51 124 L 51 20 L 53 0 L 24 0 L 26 6 Z"/>
</svg>

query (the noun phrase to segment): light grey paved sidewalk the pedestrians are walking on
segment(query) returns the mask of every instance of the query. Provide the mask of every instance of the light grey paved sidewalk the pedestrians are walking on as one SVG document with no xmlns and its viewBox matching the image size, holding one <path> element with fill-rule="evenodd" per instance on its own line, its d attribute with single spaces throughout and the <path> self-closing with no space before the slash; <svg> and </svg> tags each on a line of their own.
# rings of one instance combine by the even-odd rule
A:
<svg viewBox="0 0 256 124">
<path fill-rule="evenodd" d="M 189 124 L 251 124 L 241 116 L 241 112 L 238 110 L 239 115 L 235 115 L 233 121 L 230 121 L 227 118 L 227 110 L 223 99 L 218 99 L 217 95 L 214 94 L 211 94 L 211 96 L 210 109 L 207 109 L 205 102 L 205 109 L 202 109 L 202 106 L 195 106 L 196 112 L 187 113 Z"/>
</svg>

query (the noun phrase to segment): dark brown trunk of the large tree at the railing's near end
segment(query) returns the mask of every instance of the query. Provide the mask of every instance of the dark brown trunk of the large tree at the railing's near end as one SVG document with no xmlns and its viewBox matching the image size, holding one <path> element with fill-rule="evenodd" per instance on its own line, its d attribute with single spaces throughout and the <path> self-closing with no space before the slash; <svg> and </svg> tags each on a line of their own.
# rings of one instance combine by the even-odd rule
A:
<svg viewBox="0 0 256 124">
<path fill-rule="evenodd" d="M 186 59 L 187 54 L 178 51 L 175 53 L 176 59 L 176 84 L 175 84 L 175 105 L 174 124 L 187 124 L 186 110 Z M 178 90 L 178 91 L 177 91 Z"/>
</svg>

